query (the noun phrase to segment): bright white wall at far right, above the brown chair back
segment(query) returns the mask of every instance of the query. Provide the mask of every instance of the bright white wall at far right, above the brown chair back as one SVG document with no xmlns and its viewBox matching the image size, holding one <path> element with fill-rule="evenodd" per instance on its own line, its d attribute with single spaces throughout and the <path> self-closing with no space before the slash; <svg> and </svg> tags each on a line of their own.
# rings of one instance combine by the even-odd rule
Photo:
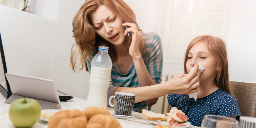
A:
<svg viewBox="0 0 256 128">
<path fill-rule="evenodd" d="M 256 1 L 233 0 L 228 34 L 231 81 L 256 83 Z"/>
</svg>

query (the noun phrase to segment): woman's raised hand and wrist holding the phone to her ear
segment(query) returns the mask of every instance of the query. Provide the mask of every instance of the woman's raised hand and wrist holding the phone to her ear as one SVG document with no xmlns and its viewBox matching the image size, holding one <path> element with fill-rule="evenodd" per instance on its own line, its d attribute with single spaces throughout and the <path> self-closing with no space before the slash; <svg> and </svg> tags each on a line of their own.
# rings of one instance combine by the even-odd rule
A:
<svg viewBox="0 0 256 128">
<path fill-rule="evenodd" d="M 129 48 L 129 54 L 131 57 L 141 57 L 140 53 L 140 38 L 142 37 L 141 33 L 138 31 L 135 23 L 123 23 L 123 26 L 128 26 L 125 30 L 125 35 L 128 32 L 132 32 L 132 41 Z M 131 36 L 131 35 L 130 35 Z"/>
</svg>

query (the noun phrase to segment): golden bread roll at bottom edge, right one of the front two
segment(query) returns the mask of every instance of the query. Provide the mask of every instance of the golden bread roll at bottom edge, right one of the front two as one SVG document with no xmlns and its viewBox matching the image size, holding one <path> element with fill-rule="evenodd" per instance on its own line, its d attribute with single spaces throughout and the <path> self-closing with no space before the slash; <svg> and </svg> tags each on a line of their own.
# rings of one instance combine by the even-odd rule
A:
<svg viewBox="0 0 256 128">
<path fill-rule="evenodd" d="M 97 114 L 91 116 L 88 120 L 86 128 L 122 128 L 119 122 L 106 114 Z"/>
</svg>

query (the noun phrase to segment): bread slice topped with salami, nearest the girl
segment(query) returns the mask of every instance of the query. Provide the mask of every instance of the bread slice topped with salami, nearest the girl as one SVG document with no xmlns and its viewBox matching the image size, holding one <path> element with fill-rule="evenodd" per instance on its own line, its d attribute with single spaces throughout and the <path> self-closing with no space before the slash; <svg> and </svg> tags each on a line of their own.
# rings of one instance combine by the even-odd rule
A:
<svg viewBox="0 0 256 128">
<path fill-rule="evenodd" d="M 177 116 L 177 113 L 178 113 L 178 116 Z M 178 110 L 176 107 L 172 107 L 170 112 L 166 113 L 166 115 L 179 123 L 182 123 L 188 120 L 188 116 L 186 116 L 181 110 Z"/>
</svg>

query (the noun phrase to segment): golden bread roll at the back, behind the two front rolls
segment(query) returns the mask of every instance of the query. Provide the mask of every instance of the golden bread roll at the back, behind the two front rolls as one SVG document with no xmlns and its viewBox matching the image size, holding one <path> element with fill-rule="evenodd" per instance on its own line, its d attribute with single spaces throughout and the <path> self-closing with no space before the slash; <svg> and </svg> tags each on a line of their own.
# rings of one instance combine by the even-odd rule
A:
<svg viewBox="0 0 256 128">
<path fill-rule="evenodd" d="M 83 109 L 83 113 L 85 116 L 90 119 L 91 116 L 94 116 L 96 114 L 106 114 L 110 115 L 109 111 L 106 108 L 103 107 L 96 107 L 96 106 L 90 106 L 85 109 Z"/>
</svg>

